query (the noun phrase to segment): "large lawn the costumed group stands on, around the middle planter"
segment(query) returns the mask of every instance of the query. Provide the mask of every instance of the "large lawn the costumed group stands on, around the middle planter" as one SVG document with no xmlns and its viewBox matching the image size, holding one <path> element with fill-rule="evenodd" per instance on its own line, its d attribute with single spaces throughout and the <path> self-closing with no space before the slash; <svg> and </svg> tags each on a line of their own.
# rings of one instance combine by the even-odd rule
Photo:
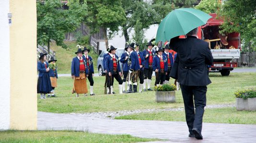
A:
<svg viewBox="0 0 256 143">
<path fill-rule="evenodd" d="M 234 92 L 238 89 L 256 88 L 256 73 L 231 73 L 222 77 L 220 73 L 211 74 L 212 81 L 208 86 L 207 104 L 235 103 Z M 155 77 L 152 77 L 154 83 Z M 174 80 L 170 80 L 174 82 Z M 58 97 L 39 99 L 38 111 L 70 113 L 70 112 L 105 112 L 149 108 L 184 107 L 181 91 L 176 92 L 176 103 L 156 103 L 155 92 L 104 95 L 105 77 L 94 77 L 95 96 L 75 98 L 71 94 L 73 81 L 71 77 L 59 77 L 56 94 Z M 118 83 L 114 82 L 114 92 L 118 93 Z M 89 82 L 87 82 L 88 91 Z M 153 86 L 151 86 L 153 88 Z"/>
</svg>

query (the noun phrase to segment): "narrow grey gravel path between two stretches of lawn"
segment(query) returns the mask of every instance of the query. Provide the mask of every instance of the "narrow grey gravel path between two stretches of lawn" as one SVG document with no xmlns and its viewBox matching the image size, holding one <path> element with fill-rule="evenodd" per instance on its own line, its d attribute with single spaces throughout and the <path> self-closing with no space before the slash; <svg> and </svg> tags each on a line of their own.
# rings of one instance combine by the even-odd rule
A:
<svg viewBox="0 0 256 143">
<path fill-rule="evenodd" d="M 224 108 L 224 107 L 235 107 L 235 104 L 209 104 L 205 108 Z M 137 113 L 147 113 L 147 112 L 163 112 L 163 111 L 182 111 L 184 107 L 181 108 L 164 108 L 164 109 L 137 109 L 137 110 L 124 110 L 124 111 L 115 111 L 115 112 L 88 112 L 88 113 L 69 113 L 76 115 L 83 115 L 96 118 L 105 118 L 105 119 L 114 119 L 118 116 L 137 114 Z"/>
</svg>

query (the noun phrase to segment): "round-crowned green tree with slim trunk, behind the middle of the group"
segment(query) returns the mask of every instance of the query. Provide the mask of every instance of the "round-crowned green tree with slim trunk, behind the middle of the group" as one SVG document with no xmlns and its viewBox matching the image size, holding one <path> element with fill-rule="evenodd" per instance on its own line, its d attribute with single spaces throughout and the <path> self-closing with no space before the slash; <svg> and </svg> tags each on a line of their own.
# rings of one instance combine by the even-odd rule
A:
<svg viewBox="0 0 256 143">
<path fill-rule="evenodd" d="M 103 29 L 106 48 L 108 46 L 107 31 L 109 37 L 119 26 L 126 21 L 125 11 L 122 8 L 121 0 L 87 0 L 88 16 L 85 20 L 92 33 Z"/>
</svg>

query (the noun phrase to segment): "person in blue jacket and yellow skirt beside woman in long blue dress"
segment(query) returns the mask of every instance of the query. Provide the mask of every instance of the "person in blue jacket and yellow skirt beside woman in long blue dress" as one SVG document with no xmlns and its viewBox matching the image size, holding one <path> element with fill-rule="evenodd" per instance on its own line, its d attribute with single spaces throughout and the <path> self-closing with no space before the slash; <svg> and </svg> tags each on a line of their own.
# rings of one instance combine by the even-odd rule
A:
<svg viewBox="0 0 256 143">
<path fill-rule="evenodd" d="M 55 60 L 53 57 L 51 57 L 49 62 L 49 76 L 50 76 L 50 80 L 51 80 L 51 85 L 52 85 L 52 91 L 51 93 L 48 94 L 48 97 L 52 96 L 52 97 L 56 97 L 54 90 L 57 87 L 57 79 L 58 79 L 58 72 L 57 72 L 57 67 L 56 67 L 56 62 L 57 60 Z M 51 66 L 52 65 L 52 66 Z"/>
</svg>

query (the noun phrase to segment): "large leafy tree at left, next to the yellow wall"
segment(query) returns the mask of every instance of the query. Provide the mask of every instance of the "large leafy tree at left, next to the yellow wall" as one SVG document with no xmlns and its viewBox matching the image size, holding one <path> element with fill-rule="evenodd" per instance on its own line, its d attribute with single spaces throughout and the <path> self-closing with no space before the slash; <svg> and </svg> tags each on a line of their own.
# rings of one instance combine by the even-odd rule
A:
<svg viewBox="0 0 256 143">
<path fill-rule="evenodd" d="M 65 33 L 75 31 L 87 14 L 86 0 L 69 0 L 69 8 L 63 9 L 61 0 L 37 0 L 37 43 L 48 46 L 55 40 L 58 46 L 67 48 Z"/>
</svg>

